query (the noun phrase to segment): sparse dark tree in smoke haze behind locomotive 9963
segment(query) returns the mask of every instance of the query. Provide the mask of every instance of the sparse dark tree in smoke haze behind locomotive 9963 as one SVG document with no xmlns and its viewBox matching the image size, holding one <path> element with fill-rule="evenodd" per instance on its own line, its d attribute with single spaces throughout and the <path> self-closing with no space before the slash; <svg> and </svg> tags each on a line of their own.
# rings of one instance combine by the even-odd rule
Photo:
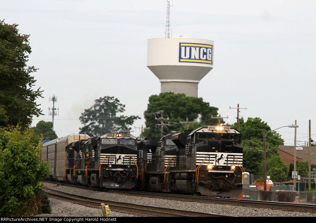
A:
<svg viewBox="0 0 316 223">
<path fill-rule="evenodd" d="M 89 136 L 98 136 L 107 132 L 131 130 L 132 125 L 139 116 L 117 116 L 117 113 L 125 112 L 125 105 L 121 104 L 119 99 L 105 96 L 95 100 L 95 104 L 89 109 L 85 109 L 80 116 L 80 122 L 84 126 L 80 133 Z"/>
</svg>

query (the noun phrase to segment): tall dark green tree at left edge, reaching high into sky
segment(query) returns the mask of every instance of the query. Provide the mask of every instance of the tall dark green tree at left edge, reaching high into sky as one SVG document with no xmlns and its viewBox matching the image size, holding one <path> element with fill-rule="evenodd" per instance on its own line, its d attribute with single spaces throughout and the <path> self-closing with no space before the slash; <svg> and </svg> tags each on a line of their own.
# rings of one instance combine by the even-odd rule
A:
<svg viewBox="0 0 316 223">
<path fill-rule="evenodd" d="M 33 90 L 36 80 L 30 75 L 37 69 L 27 66 L 30 35 L 19 34 L 17 26 L 0 21 L 0 126 L 26 127 L 33 115 L 43 115 L 35 101 L 42 91 Z"/>
</svg>

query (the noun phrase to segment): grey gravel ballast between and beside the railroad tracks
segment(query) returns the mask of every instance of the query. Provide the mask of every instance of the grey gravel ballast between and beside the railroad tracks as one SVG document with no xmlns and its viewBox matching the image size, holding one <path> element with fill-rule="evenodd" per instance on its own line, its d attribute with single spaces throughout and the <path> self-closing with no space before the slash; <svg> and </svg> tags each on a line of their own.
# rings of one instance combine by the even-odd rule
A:
<svg viewBox="0 0 316 223">
<path fill-rule="evenodd" d="M 283 211 L 272 210 L 258 207 L 242 207 L 225 204 L 206 204 L 198 202 L 187 201 L 172 201 L 166 199 L 155 199 L 139 196 L 128 196 L 116 193 L 106 193 L 100 191 L 93 191 L 88 189 L 73 188 L 69 186 L 56 186 L 56 183 L 45 183 L 47 188 L 52 188 L 58 191 L 63 191 L 70 194 L 84 195 L 86 197 L 97 198 L 108 201 L 120 201 L 133 204 L 141 204 L 152 207 L 168 207 L 174 209 L 182 209 L 188 211 L 197 211 L 205 213 L 216 213 L 230 216 L 243 216 L 243 217 L 316 217 L 316 213 L 307 213 L 299 211 Z M 91 208 L 69 202 L 60 201 L 50 198 L 52 214 L 41 214 L 37 216 L 53 216 L 53 217 L 102 217 L 101 208 Z M 110 207 L 111 209 L 111 207 Z M 111 210 L 112 211 L 112 210 Z M 138 213 L 122 213 L 112 211 L 111 217 L 139 217 L 142 216 Z"/>
</svg>

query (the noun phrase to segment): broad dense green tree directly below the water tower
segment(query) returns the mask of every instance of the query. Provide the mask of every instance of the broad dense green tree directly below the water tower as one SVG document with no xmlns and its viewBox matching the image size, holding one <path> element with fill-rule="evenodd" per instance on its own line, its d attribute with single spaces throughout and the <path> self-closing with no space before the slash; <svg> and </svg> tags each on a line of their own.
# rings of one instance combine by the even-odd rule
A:
<svg viewBox="0 0 316 223">
<path fill-rule="evenodd" d="M 218 120 L 211 118 L 217 116 L 218 108 L 210 106 L 202 98 L 187 97 L 185 94 L 175 94 L 173 92 L 163 92 L 159 95 L 151 95 L 147 110 L 144 112 L 146 127 L 146 137 L 161 136 L 161 122 L 157 118 L 165 119 L 163 135 L 171 131 L 186 130 L 187 126 L 180 122 L 195 122 L 189 128 L 201 127 L 204 124 L 214 125 Z M 163 112 L 161 112 L 163 111 Z"/>
</svg>

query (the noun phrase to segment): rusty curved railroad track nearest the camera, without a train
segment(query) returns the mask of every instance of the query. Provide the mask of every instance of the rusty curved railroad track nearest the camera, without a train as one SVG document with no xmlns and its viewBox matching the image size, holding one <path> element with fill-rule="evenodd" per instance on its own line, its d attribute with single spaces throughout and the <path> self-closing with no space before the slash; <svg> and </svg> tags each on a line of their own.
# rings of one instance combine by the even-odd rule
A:
<svg viewBox="0 0 316 223">
<path fill-rule="evenodd" d="M 58 190 L 53 190 L 49 188 L 44 188 L 48 193 L 49 197 L 56 198 L 59 200 L 64 200 L 80 205 L 85 205 L 88 207 L 100 207 L 101 203 L 109 205 L 110 209 L 116 211 L 129 211 L 133 213 L 141 213 L 150 216 L 163 216 L 163 217 L 233 217 L 221 214 L 213 213 L 203 213 L 203 212 L 194 212 L 194 211 L 185 211 L 177 210 L 172 208 L 163 208 L 163 207 L 149 207 L 138 204 L 123 203 L 117 201 L 105 201 L 100 199 L 88 198 L 80 195 L 68 194 Z"/>
</svg>

